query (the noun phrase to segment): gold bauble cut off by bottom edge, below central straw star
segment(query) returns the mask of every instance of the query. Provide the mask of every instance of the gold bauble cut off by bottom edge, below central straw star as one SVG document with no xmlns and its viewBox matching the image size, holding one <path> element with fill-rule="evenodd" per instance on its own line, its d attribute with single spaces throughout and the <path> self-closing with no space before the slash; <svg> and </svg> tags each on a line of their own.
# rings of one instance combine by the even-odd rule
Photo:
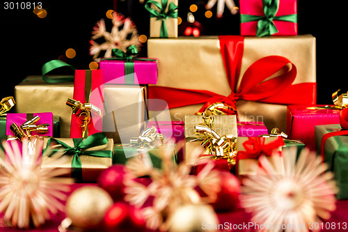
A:
<svg viewBox="0 0 348 232">
<path fill-rule="evenodd" d="M 168 232 L 216 231 L 219 224 L 210 205 L 185 205 L 177 208 L 168 218 Z"/>
</svg>

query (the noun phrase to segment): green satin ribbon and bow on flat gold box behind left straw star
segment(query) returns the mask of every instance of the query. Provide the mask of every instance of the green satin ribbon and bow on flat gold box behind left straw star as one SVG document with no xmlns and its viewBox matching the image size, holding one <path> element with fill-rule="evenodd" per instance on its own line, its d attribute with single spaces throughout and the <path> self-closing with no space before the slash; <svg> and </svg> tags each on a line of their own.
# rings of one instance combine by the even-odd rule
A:
<svg viewBox="0 0 348 232">
<path fill-rule="evenodd" d="M 72 177 L 77 178 L 77 182 L 79 183 L 82 182 L 82 164 L 79 158 L 80 155 L 108 157 L 112 159 L 113 150 L 86 150 L 95 146 L 108 144 L 109 140 L 106 138 L 106 135 L 103 132 L 92 134 L 86 139 L 72 139 L 72 141 L 74 142 L 73 147 L 69 146 L 68 144 L 65 144 L 63 141 L 59 141 L 58 139 L 50 138 L 47 141 L 47 148 L 49 148 L 48 145 L 51 144 L 52 141 L 56 144 L 60 144 L 61 146 L 63 146 L 64 154 L 74 155 L 71 164 L 71 175 Z M 53 149 L 53 153 L 51 153 L 49 156 L 54 155 L 54 153 L 56 153 L 58 150 L 61 149 Z"/>
</svg>

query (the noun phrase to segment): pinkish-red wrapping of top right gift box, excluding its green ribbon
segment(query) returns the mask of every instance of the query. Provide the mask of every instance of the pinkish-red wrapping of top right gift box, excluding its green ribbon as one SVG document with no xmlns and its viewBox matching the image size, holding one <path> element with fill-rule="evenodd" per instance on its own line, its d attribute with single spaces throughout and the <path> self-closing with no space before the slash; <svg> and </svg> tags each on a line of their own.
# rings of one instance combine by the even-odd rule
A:
<svg viewBox="0 0 348 232">
<path fill-rule="evenodd" d="M 262 0 L 243 0 L 239 2 L 239 12 L 241 15 L 259 15 L 264 16 L 264 9 L 262 6 Z M 296 0 L 280 0 L 278 12 L 276 16 L 283 15 L 296 15 L 297 14 L 297 1 Z M 272 36 L 296 36 L 297 35 L 297 23 L 285 22 L 281 20 L 273 20 L 278 33 L 274 33 Z M 242 36 L 255 36 L 256 29 L 258 27 L 258 21 L 242 22 L 241 23 L 241 35 Z"/>
</svg>

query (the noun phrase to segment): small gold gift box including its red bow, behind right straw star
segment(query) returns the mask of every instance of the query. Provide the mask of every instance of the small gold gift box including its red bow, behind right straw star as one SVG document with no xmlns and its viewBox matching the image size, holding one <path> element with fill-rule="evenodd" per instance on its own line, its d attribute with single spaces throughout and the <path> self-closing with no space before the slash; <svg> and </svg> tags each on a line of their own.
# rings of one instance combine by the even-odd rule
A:
<svg viewBox="0 0 348 232">
<path fill-rule="evenodd" d="M 238 137 L 236 173 L 239 178 L 258 174 L 258 158 L 265 155 L 276 173 L 284 172 L 282 137 Z M 256 167 L 256 168 L 255 168 Z"/>
</svg>

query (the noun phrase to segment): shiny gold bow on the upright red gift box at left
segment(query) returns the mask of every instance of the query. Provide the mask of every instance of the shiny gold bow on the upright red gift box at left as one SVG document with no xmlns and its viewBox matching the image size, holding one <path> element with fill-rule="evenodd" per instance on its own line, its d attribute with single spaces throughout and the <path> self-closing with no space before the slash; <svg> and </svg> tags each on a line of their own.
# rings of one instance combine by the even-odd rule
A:
<svg viewBox="0 0 348 232">
<path fill-rule="evenodd" d="M 87 137 L 87 125 L 90 122 L 90 112 L 95 112 L 98 115 L 102 115 L 102 111 L 95 107 L 94 105 L 90 103 L 84 103 L 74 100 L 72 98 L 68 98 L 68 100 L 65 102 L 66 105 L 72 108 L 72 114 L 76 114 L 79 116 L 79 120 L 81 120 L 81 127 L 82 127 L 82 138 Z"/>
</svg>

